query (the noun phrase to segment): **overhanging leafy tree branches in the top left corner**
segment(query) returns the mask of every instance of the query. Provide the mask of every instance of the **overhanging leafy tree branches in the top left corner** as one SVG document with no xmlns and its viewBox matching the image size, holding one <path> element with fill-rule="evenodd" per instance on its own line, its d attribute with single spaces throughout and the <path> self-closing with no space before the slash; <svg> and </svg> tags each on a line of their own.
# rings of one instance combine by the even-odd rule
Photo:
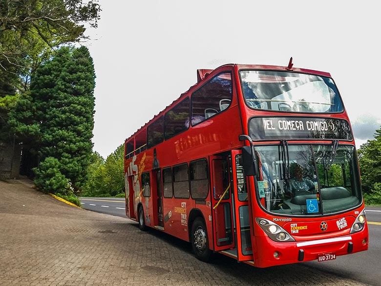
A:
<svg viewBox="0 0 381 286">
<path fill-rule="evenodd" d="M 100 10 L 93 0 L 0 0 L 0 94 L 26 90 L 56 47 L 86 38 L 84 23 L 96 27 Z"/>
</svg>

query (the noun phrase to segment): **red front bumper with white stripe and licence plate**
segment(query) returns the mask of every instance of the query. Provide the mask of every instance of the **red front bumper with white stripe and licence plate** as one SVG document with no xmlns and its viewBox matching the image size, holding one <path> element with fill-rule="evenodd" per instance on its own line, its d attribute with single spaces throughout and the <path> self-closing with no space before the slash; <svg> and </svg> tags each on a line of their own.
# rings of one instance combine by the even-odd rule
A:
<svg viewBox="0 0 381 286">
<path fill-rule="evenodd" d="M 346 255 L 368 249 L 368 227 L 354 234 L 304 242 L 274 242 L 269 237 L 257 240 L 256 267 L 269 267 L 317 260 L 320 254 Z M 261 245 L 262 244 L 262 245 Z"/>
</svg>

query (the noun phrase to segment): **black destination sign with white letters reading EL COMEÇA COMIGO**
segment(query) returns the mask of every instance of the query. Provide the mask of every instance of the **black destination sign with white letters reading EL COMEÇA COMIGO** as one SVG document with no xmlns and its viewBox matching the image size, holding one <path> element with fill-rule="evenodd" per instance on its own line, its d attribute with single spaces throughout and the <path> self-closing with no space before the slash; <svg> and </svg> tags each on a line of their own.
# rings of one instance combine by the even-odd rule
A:
<svg viewBox="0 0 381 286">
<path fill-rule="evenodd" d="M 352 140 L 348 122 L 337 118 L 256 117 L 250 120 L 249 130 L 253 140 Z"/>
</svg>

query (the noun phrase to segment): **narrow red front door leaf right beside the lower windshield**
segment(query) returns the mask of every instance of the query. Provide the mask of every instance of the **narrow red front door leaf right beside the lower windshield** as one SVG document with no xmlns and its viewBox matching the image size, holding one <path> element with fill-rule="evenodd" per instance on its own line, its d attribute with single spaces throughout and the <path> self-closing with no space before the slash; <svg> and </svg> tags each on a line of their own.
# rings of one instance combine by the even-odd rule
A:
<svg viewBox="0 0 381 286">
<path fill-rule="evenodd" d="M 251 208 L 247 180 L 243 171 L 242 151 L 232 151 L 233 204 L 237 260 L 253 260 Z"/>
</svg>

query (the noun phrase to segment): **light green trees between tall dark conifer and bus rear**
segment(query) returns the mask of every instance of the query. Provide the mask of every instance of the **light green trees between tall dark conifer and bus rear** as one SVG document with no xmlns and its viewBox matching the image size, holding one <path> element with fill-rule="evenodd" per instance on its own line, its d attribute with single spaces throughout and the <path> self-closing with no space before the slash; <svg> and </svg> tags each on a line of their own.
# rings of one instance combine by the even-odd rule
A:
<svg viewBox="0 0 381 286">
<path fill-rule="evenodd" d="M 89 197 L 124 197 L 124 145 L 120 145 L 106 161 L 98 153 L 93 154 L 93 163 L 88 170 L 82 195 Z M 101 159 L 102 158 L 102 159 Z"/>
</svg>

